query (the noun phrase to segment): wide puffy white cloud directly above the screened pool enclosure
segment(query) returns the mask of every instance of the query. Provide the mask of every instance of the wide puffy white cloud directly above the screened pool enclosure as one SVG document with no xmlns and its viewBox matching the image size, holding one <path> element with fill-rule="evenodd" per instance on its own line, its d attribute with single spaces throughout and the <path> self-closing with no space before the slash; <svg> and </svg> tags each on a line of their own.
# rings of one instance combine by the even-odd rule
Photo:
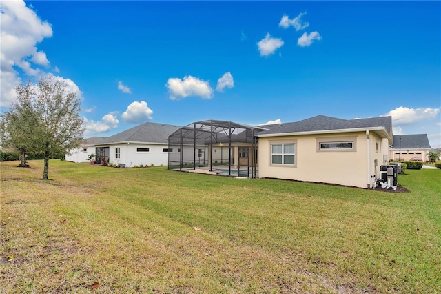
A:
<svg viewBox="0 0 441 294">
<path fill-rule="evenodd" d="M 208 81 L 203 81 L 191 75 L 184 79 L 170 78 L 165 85 L 170 91 L 170 99 L 198 96 L 203 99 L 210 99 L 213 96 L 213 89 Z"/>
</svg>

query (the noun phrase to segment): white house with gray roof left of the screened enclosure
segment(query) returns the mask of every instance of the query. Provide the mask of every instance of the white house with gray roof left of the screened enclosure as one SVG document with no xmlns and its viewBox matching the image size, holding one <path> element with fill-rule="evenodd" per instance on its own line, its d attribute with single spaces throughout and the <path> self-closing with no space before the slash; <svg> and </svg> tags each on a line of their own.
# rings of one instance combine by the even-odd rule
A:
<svg viewBox="0 0 441 294">
<path fill-rule="evenodd" d="M 168 154 L 178 150 L 168 148 L 168 136 L 180 126 L 146 122 L 107 137 L 96 144 L 96 156 L 104 156 L 112 164 L 133 166 L 166 166 Z"/>
</svg>

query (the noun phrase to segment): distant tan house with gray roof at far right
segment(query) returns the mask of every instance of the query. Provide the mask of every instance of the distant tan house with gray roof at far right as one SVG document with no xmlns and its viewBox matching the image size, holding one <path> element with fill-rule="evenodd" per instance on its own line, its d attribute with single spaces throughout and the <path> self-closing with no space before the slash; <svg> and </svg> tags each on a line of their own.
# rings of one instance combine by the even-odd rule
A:
<svg viewBox="0 0 441 294">
<path fill-rule="evenodd" d="M 427 134 L 394 135 L 389 159 L 393 161 L 429 160 L 431 146 Z"/>
</svg>

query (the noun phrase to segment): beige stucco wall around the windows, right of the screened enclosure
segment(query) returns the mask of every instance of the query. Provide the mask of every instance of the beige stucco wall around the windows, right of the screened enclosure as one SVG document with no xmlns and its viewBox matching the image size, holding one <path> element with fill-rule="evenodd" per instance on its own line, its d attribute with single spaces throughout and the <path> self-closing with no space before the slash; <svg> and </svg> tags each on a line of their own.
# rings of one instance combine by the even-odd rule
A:
<svg viewBox="0 0 441 294">
<path fill-rule="evenodd" d="M 294 179 L 305 182 L 324 182 L 345 186 L 368 188 L 372 186 L 371 175 L 379 175 L 380 165 L 384 164 L 383 155 L 388 153 L 386 139 L 369 133 L 369 170 L 367 157 L 367 135 L 359 133 L 336 133 L 326 135 L 301 135 L 287 137 L 259 138 L 259 177 Z M 353 140 L 355 150 L 318 150 L 318 141 Z M 295 165 L 271 165 L 271 144 L 295 143 Z M 376 143 L 381 151 L 376 151 Z M 374 160 L 378 166 L 375 168 Z"/>
</svg>

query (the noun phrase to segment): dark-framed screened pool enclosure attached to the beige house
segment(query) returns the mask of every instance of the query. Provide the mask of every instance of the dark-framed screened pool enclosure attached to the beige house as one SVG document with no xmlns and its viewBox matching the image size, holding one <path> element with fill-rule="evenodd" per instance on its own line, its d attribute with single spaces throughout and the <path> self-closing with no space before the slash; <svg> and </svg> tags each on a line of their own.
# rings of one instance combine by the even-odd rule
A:
<svg viewBox="0 0 441 294">
<path fill-rule="evenodd" d="M 258 177 L 258 139 L 266 130 L 232 121 L 198 121 L 168 138 L 168 168 L 192 173 Z"/>
</svg>

